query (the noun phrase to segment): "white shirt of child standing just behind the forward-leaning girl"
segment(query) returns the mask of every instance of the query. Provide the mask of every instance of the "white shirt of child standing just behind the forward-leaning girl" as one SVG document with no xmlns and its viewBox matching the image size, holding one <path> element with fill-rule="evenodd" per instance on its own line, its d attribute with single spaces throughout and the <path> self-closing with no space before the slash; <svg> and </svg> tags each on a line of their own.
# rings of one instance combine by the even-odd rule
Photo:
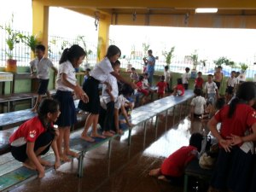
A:
<svg viewBox="0 0 256 192">
<path fill-rule="evenodd" d="M 108 73 L 108 78 L 106 79 L 106 82 L 108 82 L 108 84 L 110 84 L 112 87 L 111 93 L 113 95 L 114 102 L 115 102 L 117 100 L 117 97 L 119 96 L 119 87 L 117 84 L 117 79 L 115 77 L 113 77 L 112 74 Z M 102 86 L 102 96 L 103 96 L 104 102 L 108 103 L 111 101 L 111 98 L 107 92 L 106 84 L 103 84 L 103 86 Z"/>
</svg>

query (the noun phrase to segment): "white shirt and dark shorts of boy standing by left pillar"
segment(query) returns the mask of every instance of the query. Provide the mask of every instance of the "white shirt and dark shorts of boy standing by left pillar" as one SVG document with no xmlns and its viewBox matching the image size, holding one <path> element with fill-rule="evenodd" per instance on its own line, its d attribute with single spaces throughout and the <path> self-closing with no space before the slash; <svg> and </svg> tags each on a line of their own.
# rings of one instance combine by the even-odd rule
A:
<svg viewBox="0 0 256 192">
<path fill-rule="evenodd" d="M 30 62 L 30 66 L 37 69 L 38 94 L 44 95 L 49 84 L 49 68 L 53 67 L 53 63 L 46 57 L 43 57 L 40 61 L 35 58 Z"/>
</svg>

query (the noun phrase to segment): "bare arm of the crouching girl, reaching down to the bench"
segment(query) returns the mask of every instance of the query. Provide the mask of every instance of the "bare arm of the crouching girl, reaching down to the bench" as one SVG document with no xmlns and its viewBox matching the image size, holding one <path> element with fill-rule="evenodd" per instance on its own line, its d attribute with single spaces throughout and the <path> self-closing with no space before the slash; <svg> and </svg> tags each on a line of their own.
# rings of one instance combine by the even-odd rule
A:
<svg viewBox="0 0 256 192">
<path fill-rule="evenodd" d="M 29 160 L 32 161 L 32 164 L 36 166 L 38 170 L 38 177 L 42 178 L 44 177 L 44 166 L 41 165 L 41 163 L 38 160 L 37 155 L 34 152 L 35 143 L 28 142 L 26 143 L 26 154 Z"/>
</svg>

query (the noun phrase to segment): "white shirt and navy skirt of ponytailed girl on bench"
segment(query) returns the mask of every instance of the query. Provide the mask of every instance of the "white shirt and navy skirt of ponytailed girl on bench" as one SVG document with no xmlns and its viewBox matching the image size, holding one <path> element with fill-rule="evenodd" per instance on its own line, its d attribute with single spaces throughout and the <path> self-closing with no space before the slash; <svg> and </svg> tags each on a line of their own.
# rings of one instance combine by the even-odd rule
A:
<svg viewBox="0 0 256 192">
<path fill-rule="evenodd" d="M 60 103 L 61 114 L 56 121 L 59 127 L 72 126 L 77 121 L 76 109 L 73 102 L 73 89 L 61 82 L 61 74 L 67 75 L 67 81 L 73 85 L 77 84 L 75 68 L 70 61 L 65 61 L 59 66 L 55 89 L 55 99 Z"/>
</svg>

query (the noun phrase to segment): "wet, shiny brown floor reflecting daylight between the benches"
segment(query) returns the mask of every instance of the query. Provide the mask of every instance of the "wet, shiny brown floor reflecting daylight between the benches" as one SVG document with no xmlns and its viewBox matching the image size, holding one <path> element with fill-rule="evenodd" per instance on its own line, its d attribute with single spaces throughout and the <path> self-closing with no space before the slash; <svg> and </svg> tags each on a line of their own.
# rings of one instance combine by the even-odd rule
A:
<svg viewBox="0 0 256 192">
<path fill-rule="evenodd" d="M 108 143 L 96 148 L 84 158 L 84 177 L 77 174 L 77 160 L 64 164 L 57 171 L 46 174 L 42 179 L 34 179 L 13 192 L 182 192 L 183 186 L 173 186 L 149 177 L 150 169 L 160 166 L 166 156 L 177 148 L 189 144 L 190 134 L 205 131 L 200 121 L 190 122 L 168 118 L 169 129 L 165 129 L 165 119 L 160 117 L 157 136 L 154 120 L 147 122 L 146 141 L 143 142 L 143 127 L 132 131 L 131 146 L 127 145 L 128 133 L 113 140 L 112 154 L 108 160 Z M 173 124 L 174 123 L 174 124 Z M 176 124 L 176 125 L 175 125 Z"/>
</svg>

